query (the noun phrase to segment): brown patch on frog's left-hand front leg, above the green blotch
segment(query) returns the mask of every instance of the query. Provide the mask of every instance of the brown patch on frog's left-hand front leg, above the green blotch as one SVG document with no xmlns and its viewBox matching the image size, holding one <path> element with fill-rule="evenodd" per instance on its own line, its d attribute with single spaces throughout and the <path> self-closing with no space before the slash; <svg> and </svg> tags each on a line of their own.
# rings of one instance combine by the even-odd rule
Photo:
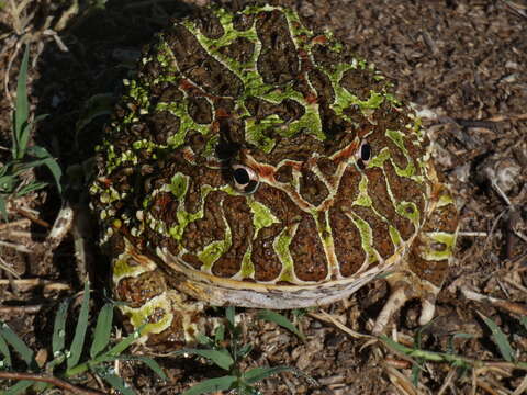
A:
<svg viewBox="0 0 527 395">
<path fill-rule="evenodd" d="M 136 278 L 122 279 L 115 287 L 115 297 L 131 307 L 138 307 L 167 290 L 165 274 L 160 270 L 149 271 Z"/>
</svg>

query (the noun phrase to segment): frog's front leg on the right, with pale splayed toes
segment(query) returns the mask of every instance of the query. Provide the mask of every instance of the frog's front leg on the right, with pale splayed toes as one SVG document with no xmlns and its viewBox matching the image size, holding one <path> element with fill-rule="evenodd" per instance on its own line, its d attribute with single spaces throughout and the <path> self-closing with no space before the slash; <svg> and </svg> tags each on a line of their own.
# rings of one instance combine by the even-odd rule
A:
<svg viewBox="0 0 527 395">
<path fill-rule="evenodd" d="M 375 320 L 373 334 L 381 334 L 393 314 L 412 298 L 422 301 L 419 325 L 434 317 L 436 297 L 453 256 L 458 211 L 450 191 L 439 182 L 434 187 L 430 204 L 428 217 L 400 269 L 386 276 L 391 294 Z"/>
</svg>

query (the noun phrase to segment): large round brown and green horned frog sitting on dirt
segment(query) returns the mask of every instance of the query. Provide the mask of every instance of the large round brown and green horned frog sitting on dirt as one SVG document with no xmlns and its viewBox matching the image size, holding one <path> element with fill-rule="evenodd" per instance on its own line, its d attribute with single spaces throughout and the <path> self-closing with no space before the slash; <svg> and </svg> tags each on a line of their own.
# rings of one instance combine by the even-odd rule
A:
<svg viewBox="0 0 527 395">
<path fill-rule="evenodd" d="M 287 7 L 213 7 L 144 50 L 97 147 L 91 206 L 127 325 L 183 347 L 208 306 L 326 306 L 382 278 L 373 334 L 430 321 L 458 210 L 393 84 Z"/>
</svg>

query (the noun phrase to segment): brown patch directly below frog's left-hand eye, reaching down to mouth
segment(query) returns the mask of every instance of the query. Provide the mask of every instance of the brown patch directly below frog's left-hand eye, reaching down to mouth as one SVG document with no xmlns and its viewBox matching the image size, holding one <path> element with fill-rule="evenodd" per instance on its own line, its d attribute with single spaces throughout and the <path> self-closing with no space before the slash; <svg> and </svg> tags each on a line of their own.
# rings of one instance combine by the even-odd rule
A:
<svg viewBox="0 0 527 395">
<path fill-rule="evenodd" d="M 231 248 L 212 267 L 212 273 L 223 278 L 236 274 L 247 251 L 247 240 L 253 240 L 253 214 L 245 196 L 225 196 L 223 212 L 231 228 Z"/>
</svg>

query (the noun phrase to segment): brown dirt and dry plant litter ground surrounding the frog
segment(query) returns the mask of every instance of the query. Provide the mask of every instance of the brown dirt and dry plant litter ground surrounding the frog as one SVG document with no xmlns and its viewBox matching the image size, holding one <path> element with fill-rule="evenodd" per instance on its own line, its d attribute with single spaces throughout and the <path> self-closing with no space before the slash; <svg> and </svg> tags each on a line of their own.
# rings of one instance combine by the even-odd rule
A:
<svg viewBox="0 0 527 395">
<path fill-rule="evenodd" d="M 386 297 L 386 286 L 379 280 L 349 301 L 325 308 L 326 314 L 310 311 L 301 317 L 305 341 L 245 311 L 244 340 L 254 345 L 247 366 L 290 365 L 313 379 L 283 373 L 264 381 L 259 390 L 313 395 L 520 394 L 527 386 L 525 371 L 504 361 L 480 314 L 507 335 L 515 358 L 527 361 L 527 327 L 520 323 L 527 317 L 527 2 L 283 2 L 314 25 L 333 30 L 393 80 L 400 98 L 416 104 L 461 215 L 457 261 L 439 295 L 437 319 L 423 331 L 421 347 L 438 352 L 453 348 L 481 363 L 463 372 L 449 363 L 424 362 L 413 386 L 407 357 L 339 328 L 335 321 L 368 334 Z M 108 121 L 101 115 L 79 124 L 89 117 L 87 101 L 96 94 L 117 94 L 142 46 L 169 23 L 169 16 L 184 15 L 206 1 L 30 0 L 14 18 L 15 3 L 22 1 L 0 1 L 0 80 L 7 83 L 0 95 L 0 163 L 9 159 L 20 46 L 30 42 L 32 111 L 49 114 L 36 127 L 34 140 L 58 158 L 67 173 L 65 194 L 82 208 L 88 176 L 81 166 L 92 157 Z M 48 178 L 45 171 L 34 176 Z M 46 245 L 60 208 L 54 188 L 13 201 L 9 208 L 9 222 L 0 224 L 0 318 L 34 350 L 45 350 L 58 302 L 80 291 L 87 276 L 96 298 L 102 298 L 108 261 L 92 239 L 72 233 L 58 246 Z M 94 239 L 97 230 L 86 219 L 79 221 Z M 75 240 L 87 248 L 86 259 L 76 259 Z M 1 269 L 5 267 L 10 270 Z M 412 346 L 417 315 L 418 305 L 408 303 L 390 334 Z M 453 338 L 461 332 L 472 337 Z M 139 394 L 177 394 L 223 374 L 197 360 L 158 361 L 169 383 L 141 364 L 123 363 L 120 372 Z M 92 376 L 82 383 L 109 392 Z"/>
</svg>

